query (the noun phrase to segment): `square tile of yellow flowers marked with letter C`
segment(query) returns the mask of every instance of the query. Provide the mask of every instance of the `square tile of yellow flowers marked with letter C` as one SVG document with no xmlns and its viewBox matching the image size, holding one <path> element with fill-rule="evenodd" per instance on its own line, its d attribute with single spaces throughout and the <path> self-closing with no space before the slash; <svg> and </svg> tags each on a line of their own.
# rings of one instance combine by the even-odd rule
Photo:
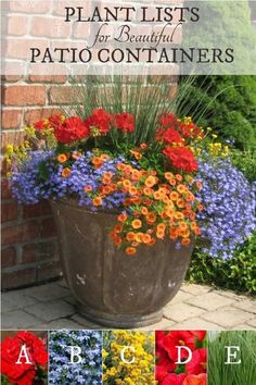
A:
<svg viewBox="0 0 256 385">
<path fill-rule="evenodd" d="M 121 351 L 126 347 L 128 349 L 125 350 L 121 360 Z M 102 355 L 104 384 L 153 385 L 155 383 L 153 333 L 104 332 Z"/>
</svg>

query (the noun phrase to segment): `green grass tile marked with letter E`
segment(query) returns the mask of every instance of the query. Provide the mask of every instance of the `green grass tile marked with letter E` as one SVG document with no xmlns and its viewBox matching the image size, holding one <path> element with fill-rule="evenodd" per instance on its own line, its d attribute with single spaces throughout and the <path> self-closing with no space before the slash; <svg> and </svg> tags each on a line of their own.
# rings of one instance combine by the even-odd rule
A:
<svg viewBox="0 0 256 385">
<path fill-rule="evenodd" d="M 253 331 L 209 332 L 208 334 L 208 385 L 254 385 L 256 378 L 256 333 Z M 238 346 L 240 364 L 225 364 L 227 346 Z M 232 351 L 234 352 L 234 351 Z"/>
</svg>

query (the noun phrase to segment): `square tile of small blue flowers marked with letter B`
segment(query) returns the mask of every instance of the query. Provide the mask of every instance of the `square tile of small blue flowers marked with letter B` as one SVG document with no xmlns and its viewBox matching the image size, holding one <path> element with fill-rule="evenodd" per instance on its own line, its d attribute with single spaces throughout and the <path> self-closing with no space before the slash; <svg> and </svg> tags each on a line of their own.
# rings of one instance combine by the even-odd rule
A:
<svg viewBox="0 0 256 385">
<path fill-rule="evenodd" d="M 81 360 L 71 363 L 71 347 Z M 76 351 L 76 350 L 75 350 Z M 97 331 L 52 331 L 49 337 L 49 384 L 98 385 L 102 377 L 102 336 Z"/>
</svg>

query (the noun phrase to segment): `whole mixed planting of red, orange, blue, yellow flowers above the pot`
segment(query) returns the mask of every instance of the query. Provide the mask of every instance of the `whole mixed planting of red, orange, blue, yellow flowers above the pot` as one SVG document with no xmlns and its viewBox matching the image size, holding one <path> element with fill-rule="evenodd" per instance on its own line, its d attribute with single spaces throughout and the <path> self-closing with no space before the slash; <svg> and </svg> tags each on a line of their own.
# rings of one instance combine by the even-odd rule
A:
<svg viewBox="0 0 256 385">
<path fill-rule="evenodd" d="M 256 227 L 255 187 L 210 128 L 178 119 L 151 92 L 144 104 L 140 95 L 123 105 L 117 92 L 114 105 L 75 105 L 77 115 L 26 127 L 24 145 L 7 150 L 13 196 L 29 204 L 76 199 L 92 212 L 115 212 L 110 236 L 126 254 L 166 238 L 180 248 L 203 236 L 212 257 L 230 258 Z"/>
</svg>

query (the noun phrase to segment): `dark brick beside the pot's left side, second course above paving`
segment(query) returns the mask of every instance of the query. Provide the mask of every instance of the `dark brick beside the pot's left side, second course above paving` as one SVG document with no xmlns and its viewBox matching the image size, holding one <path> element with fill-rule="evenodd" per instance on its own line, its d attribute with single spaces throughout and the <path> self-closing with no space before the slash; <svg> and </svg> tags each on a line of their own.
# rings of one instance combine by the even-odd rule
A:
<svg viewBox="0 0 256 385">
<path fill-rule="evenodd" d="M 25 245 L 23 247 L 22 263 L 43 262 L 57 258 L 56 241 Z"/>
</svg>

